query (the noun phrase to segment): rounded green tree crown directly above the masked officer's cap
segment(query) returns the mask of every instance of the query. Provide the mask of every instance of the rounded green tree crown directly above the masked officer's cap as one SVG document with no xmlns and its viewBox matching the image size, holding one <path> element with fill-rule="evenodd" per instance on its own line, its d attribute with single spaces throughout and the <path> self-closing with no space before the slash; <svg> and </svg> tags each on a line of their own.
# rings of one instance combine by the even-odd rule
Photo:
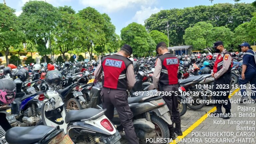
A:
<svg viewBox="0 0 256 144">
<path fill-rule="evenodd" d="M 213 27 L 207 32 L 206 46 L 212 47 L 213 43 L 221 40 L 226 49 L 231 48 L 233 44 L 234 33 L 226 27 Z"/>
</svg>

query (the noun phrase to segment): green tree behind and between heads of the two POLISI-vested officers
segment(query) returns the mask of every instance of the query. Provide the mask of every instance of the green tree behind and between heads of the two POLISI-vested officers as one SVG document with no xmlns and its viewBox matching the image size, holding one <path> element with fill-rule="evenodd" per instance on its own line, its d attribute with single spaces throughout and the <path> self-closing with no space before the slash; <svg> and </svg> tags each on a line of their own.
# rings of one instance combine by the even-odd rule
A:
<svg viewBox="0 0 256 144">
<path fill-rule="evenodd" d="M 121 30 L 121 39 L 122 44 L 128 44 L 133 48 L 133 54 L 136 56 L 143 56 L 145 52 L 156 47 L 145 27 L 135 22 Z"/>
</svg>

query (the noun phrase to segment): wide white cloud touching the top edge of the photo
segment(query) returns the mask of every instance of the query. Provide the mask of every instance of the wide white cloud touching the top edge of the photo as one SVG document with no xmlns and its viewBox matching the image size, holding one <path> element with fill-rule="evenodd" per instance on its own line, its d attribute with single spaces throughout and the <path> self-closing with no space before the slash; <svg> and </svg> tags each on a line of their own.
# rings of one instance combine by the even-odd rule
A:
<svg viewBox="0 0 256 144">
<path fill-rule="evenodd" d="M 137 5 L 150 6 L 156 0 L 79 0 L 85 6 L 100 7 L 105 12 L 116 12 Z"/>
</svg>

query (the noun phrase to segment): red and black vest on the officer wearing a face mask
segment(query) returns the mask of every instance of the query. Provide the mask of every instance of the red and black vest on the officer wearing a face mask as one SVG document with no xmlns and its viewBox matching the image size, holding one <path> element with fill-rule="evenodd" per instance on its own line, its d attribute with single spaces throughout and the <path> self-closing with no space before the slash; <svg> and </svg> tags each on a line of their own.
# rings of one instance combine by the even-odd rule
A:
<svg viewBox="0 0 256 144">
<path fill-rule="evenodd" d="M 219 54 L 216 58 L 216 61 L 214 63 L 214 66 L 213 66 L 213 72 L 216 73 L 218 72 L 220 69 L 222 69 L 222 65 L 223 65 L 223 57 L 225 56 L 225 54 L 229 54 L 232 58 L 232 55 L 230 52 L 225 52 L 223 54 Z M 228 58 L 228 57 L 227 57 Z M 231 69 L 232 69 L 232 66 L 233 66 L 233 60 L 231 61 L 231 64 L 228 68 L 228 71 L 226 72 L 227 74 L 229 74 L 231 72 Z"/>
</svg>

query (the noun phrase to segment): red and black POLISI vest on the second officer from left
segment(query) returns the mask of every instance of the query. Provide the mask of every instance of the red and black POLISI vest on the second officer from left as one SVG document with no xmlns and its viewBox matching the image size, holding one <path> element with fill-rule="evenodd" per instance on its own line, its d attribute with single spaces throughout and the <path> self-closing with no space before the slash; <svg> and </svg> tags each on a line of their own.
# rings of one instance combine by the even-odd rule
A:
<svg viewBox="0 0 256 144">
<path fill-rule="evenodd" d="M 171 53 L 159 55 L 158 58 L 162 62 L 160 85 L 178 84 L 179 59 Z"/>
</svg>

